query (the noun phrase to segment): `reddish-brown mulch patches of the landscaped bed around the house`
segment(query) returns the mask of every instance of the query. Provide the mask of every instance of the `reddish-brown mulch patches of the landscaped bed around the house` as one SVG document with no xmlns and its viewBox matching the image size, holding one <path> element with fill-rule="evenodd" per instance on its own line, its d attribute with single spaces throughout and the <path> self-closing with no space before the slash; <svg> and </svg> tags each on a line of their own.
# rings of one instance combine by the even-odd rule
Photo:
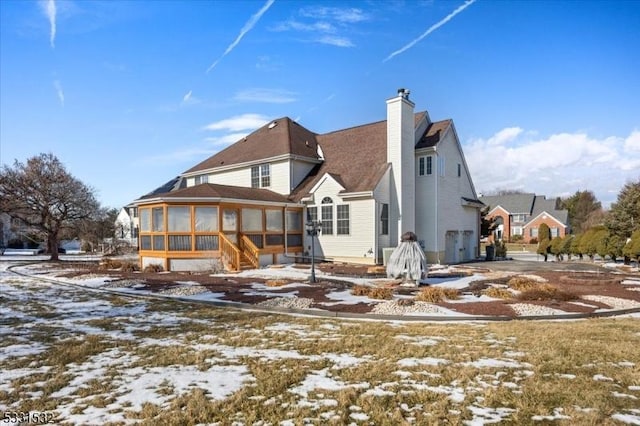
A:
<svg viewBox="0 0 640 426">
<path fill-rule="evenodd" d="M 59 267 L 59 264 L 56 264 Z M 255 284 L 266 284 L 268 279 L 264 278 L 246 278 L 237 276 L 212 276 L 209 273 L 186 273 L 186 272 L 121 272 L 121 271 L 104 271 L 100 270 L 97 265 L 87 264 L 84 265 L 84 269 L 77 269 L 78 265 L 73 265 L 73 271 L 63 274 L 64 277 L 80 276 L 85 274 L 100 274 L 109 275 L 114 280 L 135 280 L 137 282 L 145 283 L 144 290 L 151 290 L 161 292 L 169 288 L 177 287 L 184 282 L 198 283 L 207 288 L 207 290 L 216 293 L 225 293 L 220 297 L 220 300 L 226 300 L 231 302 L 241 302 L 246 304 L 257 304 L 265 301 L 269 298 L 278 297 L 278 294 L 290 294 L 292 291 L 296 292 L 296 296 L 299 298 L 312 299 L 314 303 L 312 308 L 318 308 L 331 312 L 349 312 L 349 313 L 367 313 L 370 312 L 374 304 L 357 303 L 348 304 L 340 303 L 327 297 L 327 294 L 335 291 L 344 291 L 350 288 L 352 285 L 346 281 L 341 281 L 340 277 L 368 277 L 379 278 L 380 270 L 371 269 L 371 266 L 366 265 L 352 265 L 352 264 L 340 264 L 340 263 L 321 263 L 316 267 L 325 273 L 331 273 L 336 278 L 331 280 L 322 279 L 313 285 L 299 285 L 295 287 L 269 287 L 268 293 L 264 294 L 263 290 L 255 291 Z M 309 265 L 298 265 L 300 269 L 308 269 Z M 454 276 L 469 275 L 473 268 L 460 267 L 461 271 L 454 271 Z M 466 270 L 465 270 L 466 269 Z M 476 269 L 475 272 L 486 272 L 488 276 L 489 270 Z M 620 299 L 634 300 L 640 302 L 640 291 L 633 291 L 632 288 L 639 286 L 624 286 L 621 285 L 621 281 L 625 277 L 635 276 L 636 278 L 640 274 L 620 274 L 611 272 L 602 272 L 598 274 L 573 274 L 567 271 L 531 271 L 531 274 L 538 275 L 545 278 L 549 284 L 552 284 L 559 290 L 570 293 L 576 296 L 578 299 L 584 295 L 598 295 L 609 296 Z M 438 277 L 442 277 L 443 273 L 438 272 Z M 430 275 L 435 277 L 435 275 Z M 467 294 L 473 293 L 476 296 L 480 295 L 483 288 L 486 288 L 489 284 L 506 284 L 509 277 L 500 277 L 495 279 L 485 279 L 475 281 L 469 288 L 461 289 L 461 292 Z M 300 282 L 300 280 L 284 280 L 284 284 Z M 424 288 L 421 286 L 420 288 Z M 411 295 L 419 291 L 419 289 L 407 289 L 402 287 L 395 287 L 396 294 Z M 259 293 L 259 294 L 255 294 Z M 575 300 L 578 303 L 572 303 L 572 301 L 556 301 L 556 300 L 496 300 L 496 301 L 465 301 L 462 303 L 452 303 L 443 301 L 438 303 L 439 306 L 447 308 L 449 310 L 459 312 L 461 314 L 468 315 L 490 315 L 490 316 L 516 316 L 515 312 L 509 303 L 528 303 L 533 305 L 540 305 L 556 310 L 561 310 L 567 313 L 591 313 L 597 309 L 610 309 L 611 307 L 600 303 L 598 301 L 588 301 L 581 303 L 579 300 Z M 322 304 L 329 303 L 329 304 Z M 335 304 L 333 304 L 335 303 Z"/>
</svg>

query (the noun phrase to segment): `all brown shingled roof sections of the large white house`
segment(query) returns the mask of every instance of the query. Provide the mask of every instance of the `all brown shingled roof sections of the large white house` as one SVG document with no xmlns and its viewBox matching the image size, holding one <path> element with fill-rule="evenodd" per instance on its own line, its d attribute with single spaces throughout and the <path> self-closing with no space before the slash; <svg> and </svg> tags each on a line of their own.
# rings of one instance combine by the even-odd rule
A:
<svg viewBox="0 0 640 426">
<path fill-rule="evenodd" d="M 426 111 L 415 113 L 414 125 L 417 127 L 424 119 L 428 119 Z M 429 123 L 416 148 L 436 145 L 449 126 L 451 126 L 451 120 Z M 372 191 L 389 167 L 386 120 L 319 135 L 307 130 L 289 117 L 284 117 L 262 126 L 246 138 L 190 168 L 185 174 L 221 166 L 264 161 L 280 155 L 294 155 L 317 161 L 321 160 L 318 156 L 318 145 L 322 149 L 324 161 L 317 164 L 302 183 L 292 191 L 289 200 L 300 201 L 307 196 L 311 188 L 326 173 L 336 179 L 345 188 L 345 192 Z M 180 185 L 180 182 L 184 183 L 184 179 L 182 181 L 176 179 L 143 198 L 223 197 L 287 201 L 286 197 L 262 189 L 214 184 L 184 188 L 184 185 Z M 267 193 L 269 195 L 266 195 Z"/>
</svg>

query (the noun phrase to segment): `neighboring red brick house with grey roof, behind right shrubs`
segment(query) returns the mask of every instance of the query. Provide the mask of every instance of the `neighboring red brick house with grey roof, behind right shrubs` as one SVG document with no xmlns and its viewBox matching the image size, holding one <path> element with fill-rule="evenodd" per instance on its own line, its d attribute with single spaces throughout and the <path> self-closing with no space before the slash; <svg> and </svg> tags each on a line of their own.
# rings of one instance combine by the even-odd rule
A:
<svg viewBox="0 0 640 426">
<path fill-rule="evenodd" d="M 543 223 L 549 227 L 551 238 L 569 233 L 569 212 L 557 210 L 555 200 L 547 200 L 544 195 L 493 195 L 480 197 L 480 201 L 489 206 L 487 218 L 496 218 L 494 240 L 538 240 L 538 228 Z"/>
</svg>

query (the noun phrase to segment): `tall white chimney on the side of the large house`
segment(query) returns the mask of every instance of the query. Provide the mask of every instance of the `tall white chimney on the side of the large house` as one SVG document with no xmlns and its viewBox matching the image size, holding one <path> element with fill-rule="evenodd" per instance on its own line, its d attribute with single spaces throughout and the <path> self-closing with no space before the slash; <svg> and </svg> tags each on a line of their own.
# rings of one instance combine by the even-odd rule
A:
<svg viewBox="0 0 640 426">
<path fill-rule="evenodd" d="M 398 89 L 398 95 L 387 100 L 387 162 L 391 163 L 391 206 L 397 229 L 390 230 L 392 242 L 400 235 L 415 232 L 415 126 L 409 90 Z M 391 219 L 391 218 L 390 218 Z"/>
</svg>

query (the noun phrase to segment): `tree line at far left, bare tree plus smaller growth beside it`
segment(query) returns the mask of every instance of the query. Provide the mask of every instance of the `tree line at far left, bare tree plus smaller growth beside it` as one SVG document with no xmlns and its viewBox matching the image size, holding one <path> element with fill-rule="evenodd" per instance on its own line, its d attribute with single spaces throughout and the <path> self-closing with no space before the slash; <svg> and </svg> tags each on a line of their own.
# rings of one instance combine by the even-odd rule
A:
<svg viewBox="0 0 640 426">
<path fill-rule="evenodd" d="M 9 242 L 44 247 L 57 260 L 61 240 L 79 239 L 93 251 L 105 240 L 117 241 L 117 209 L 101 207 L 95 190 L 73 177 L 53 154 L 0 170 L 0 213 L 6 213 L 21 238 Z M 20 247 L 22 248 L 22 247 Z"/>
</svg>

